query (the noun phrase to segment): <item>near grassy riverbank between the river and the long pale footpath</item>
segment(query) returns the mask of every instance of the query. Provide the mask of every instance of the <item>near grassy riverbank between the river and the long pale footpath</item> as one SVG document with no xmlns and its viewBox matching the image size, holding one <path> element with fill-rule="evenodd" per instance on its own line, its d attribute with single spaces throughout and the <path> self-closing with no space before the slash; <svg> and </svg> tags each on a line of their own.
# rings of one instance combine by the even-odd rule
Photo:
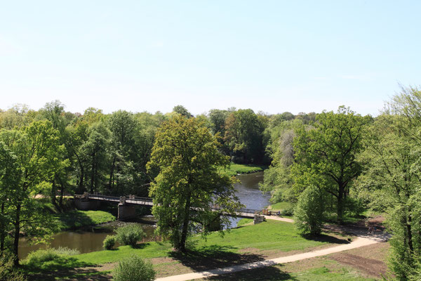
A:
<svg viewBox="0 0 421 281">
<path fill-rule="evenodd" d="M 180 254 L 172 251 L 168 242 L 147 242 L 138 247 L 119 247 L 109 251 L 94 251 L 76 256 L 62 256 L 58 260 L 42 263 L 38 268 L 26 268 L 33 280 L 53 280 L 56 273 L 74 275 L 75 268 L 98 267 L 100 271 L 110 270 L 116 263 L 127 256 L 137 254 L 151 259 L 158 276 L 168 276 L 198 270 L 209 270 L 223 266 L 263 261 L 277 256 L 300 254 L 314 249 L 346 244 L 347 237 L 333 233 L 323 233 L 321 237 L 306 238 L 298 235 L 291 223 L 266 221 L 257 225 L 234 228 L 221 237 L 211 233 L 208 239 L 194 236 L 189 240 L 189 251 Z M 105 266 L 101 266 L 104 265 Z M 24 267 L 25 268 L 25 267 Z M 67 273 L 65 273 L 67 272 Z M 67 275 L 67 277 L 71 277 Z M 41 277 L 42 276 L 42 277 Z M 61 275 L 60 275 L 61 276 Z M 64 276 L 62 276 L 64 279 Z"/>
</svg>

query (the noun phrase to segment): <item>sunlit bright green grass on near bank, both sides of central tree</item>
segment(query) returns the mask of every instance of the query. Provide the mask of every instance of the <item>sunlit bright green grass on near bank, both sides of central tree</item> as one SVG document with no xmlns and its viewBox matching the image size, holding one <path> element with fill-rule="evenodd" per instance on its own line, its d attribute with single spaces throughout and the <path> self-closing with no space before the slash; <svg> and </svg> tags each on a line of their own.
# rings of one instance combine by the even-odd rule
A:
<svg viewBox="0 0 421 281">
<path fill-rule="evenodd" d="M 206 251 L 206 249 L 218 247 L 218 249 L 227 252 L 238 252 L 248 247 L 292 251 L 326 243 L 306 240 L 298 235 L 293 224 L 280 221 L 267 221 L 254 226 L 235 228 L 226 233 L 224 237 L 218 233 L 211 233 L 206 241 L 199 236 L 192 237 L 190 240 L 190 244 L 194 245 L 196 251 Z M 148 242 L 140 245 L 138 249 L 123 246 L 111 251 L 94 251 L 73 257 L 82 263 L 101 264 L 119 261 L 121 258 L 133 254 L 138 254 L 143 258 L 170 256 L 171 249 L 168 242 Z"/>
</svg>

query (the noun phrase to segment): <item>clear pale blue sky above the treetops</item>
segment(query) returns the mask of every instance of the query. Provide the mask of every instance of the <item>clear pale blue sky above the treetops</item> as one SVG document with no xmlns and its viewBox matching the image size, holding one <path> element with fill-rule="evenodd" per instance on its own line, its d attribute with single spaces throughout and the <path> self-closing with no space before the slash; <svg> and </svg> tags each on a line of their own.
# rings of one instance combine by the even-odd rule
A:
<svg viewBox="0 0 421 281">
<path fill-rule="evenodd" d="M 377 115 L 421 79 L 421 1 L 2 1 L 0 108 Z"/>
</svg>

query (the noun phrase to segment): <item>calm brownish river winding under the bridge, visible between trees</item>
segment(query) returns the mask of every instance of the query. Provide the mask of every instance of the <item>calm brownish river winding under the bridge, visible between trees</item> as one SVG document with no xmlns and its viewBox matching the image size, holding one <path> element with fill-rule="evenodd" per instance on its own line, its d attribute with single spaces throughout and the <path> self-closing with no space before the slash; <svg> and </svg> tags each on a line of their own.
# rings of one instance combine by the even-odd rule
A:
<svg viewBox="0 0 421 281">
<path fill-rule="evenodd" d="M 245 174 L 236 176 L 241 183 L 238 183 L 235 187 L 236 195 L 242 204 L 246 205 L 248 209 L 262 209 L 269 205 L 269 193 L 262 194 L 259 190 L 259 183 L 263 181 L 263 172 L 254 174 Z M 150 237 L 154 232 L 154 226 L 152 216 L 146 216 L 138 218 L 137 223 L 142 225 L 145 233 Z M 232 224 L 236 226 L 239 218 L 233 218 Z M 63 231 L 53 235 L 51 244 L 49 247 L 68 247 L 70 249 L 77 249 L 81 253 L 88 253 L 90 251 L 102 250 L 102 241 L 107 235 L 114 234 L 114 229 L 124 224 L 120 221 L 114 221 L 112 223 L 105 223 L 101 226 L 95 226 L 91 228 L 83 228 L 81 230 Z M 20 238 L 19 247 L 19 258 L 25 259 L 30 251 L 36 249 L 46 248 L 46 244 L 30 245 L 25 237 Z"/>
</svg>

